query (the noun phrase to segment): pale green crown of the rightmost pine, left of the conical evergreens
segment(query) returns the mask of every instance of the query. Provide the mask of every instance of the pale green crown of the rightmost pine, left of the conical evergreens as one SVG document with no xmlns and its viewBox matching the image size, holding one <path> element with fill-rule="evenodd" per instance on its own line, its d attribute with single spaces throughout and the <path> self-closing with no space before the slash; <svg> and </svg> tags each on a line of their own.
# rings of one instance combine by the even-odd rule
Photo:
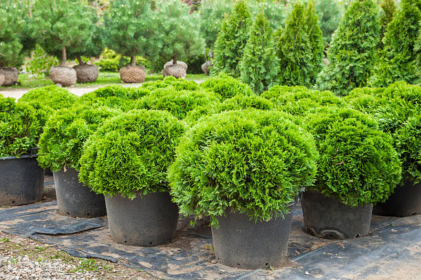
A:
<svg viewBox="0 0 421 280">
<path fill-rule="evenodd" d="M 174 57 L 176 60 L 191 60 L 202 55 L 204 38 L 200 36 L 199 14 L 190 13 L 182 1 L 162 1 L 154 12 L 155 32 L 147 56 L 154 70 L 161 70 Z"/>
</svg>

